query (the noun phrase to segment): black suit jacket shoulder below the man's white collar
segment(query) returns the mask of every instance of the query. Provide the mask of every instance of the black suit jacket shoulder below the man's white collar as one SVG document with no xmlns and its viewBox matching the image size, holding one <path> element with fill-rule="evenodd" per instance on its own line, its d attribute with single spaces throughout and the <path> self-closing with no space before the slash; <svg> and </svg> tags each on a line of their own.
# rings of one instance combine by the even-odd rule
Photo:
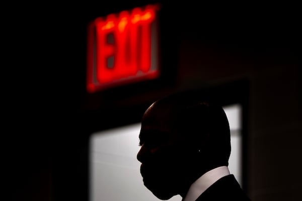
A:
<svg viewBox="0 0 302 201">
<path fill-rule="evenodd" d="M 218 179 L 196 201 L 205 200 L 251 200 L 240 187 L 233 174 Z"/>
</svg>

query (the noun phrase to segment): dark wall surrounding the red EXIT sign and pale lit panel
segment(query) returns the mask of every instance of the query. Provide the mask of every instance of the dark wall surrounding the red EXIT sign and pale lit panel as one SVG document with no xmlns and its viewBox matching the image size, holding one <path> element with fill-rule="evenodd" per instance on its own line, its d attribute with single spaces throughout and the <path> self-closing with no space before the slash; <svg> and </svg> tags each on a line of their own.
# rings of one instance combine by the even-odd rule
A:
<svg viewBox="0 0 302 201">
<path fill-rule="evenodd" d="M 226 102 L 247 97 L 246 191 L 253 200 L 297 200 L 297 7 L 162 1 L 165 76 L 87 94 L 87 23 L 145 3 L 154 2 L 6 6 L 2 133 L 10 197 L 86 200 L 92 131 L 139 121 L 148 104 L 171 91 L 225 87 L 235 95 Z M 247 92 L 237 83 L 245 83 Z"/>
</svg>

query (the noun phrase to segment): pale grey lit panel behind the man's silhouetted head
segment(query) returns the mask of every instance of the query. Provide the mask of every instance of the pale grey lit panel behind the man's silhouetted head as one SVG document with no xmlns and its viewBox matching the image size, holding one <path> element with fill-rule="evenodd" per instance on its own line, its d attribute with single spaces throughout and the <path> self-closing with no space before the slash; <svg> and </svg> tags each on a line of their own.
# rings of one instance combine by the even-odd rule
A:
<svg viewBox="0 0 302 201">
<path fill-rule="evenodd" d="M 229 169 L 241 183 L 241 107 L 223 108 L 229 119 L 232 152 Z M 140 123 L 94 133 L 90 138 L 90 201 L 160 200 L 142 183 L 139 150 Z M 177 195 L 171 201 L 181 201 Z"/>
</svg>

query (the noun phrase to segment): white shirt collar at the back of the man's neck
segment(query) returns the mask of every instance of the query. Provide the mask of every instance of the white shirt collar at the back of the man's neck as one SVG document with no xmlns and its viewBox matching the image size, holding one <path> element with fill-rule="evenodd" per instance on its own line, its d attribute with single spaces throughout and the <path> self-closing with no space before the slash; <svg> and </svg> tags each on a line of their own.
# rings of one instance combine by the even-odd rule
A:
<svg viewBox="0 0 302 201">
<path fill-rule="evenodd" d="M 210 185 L 215 183 L 221 177 L 229 174 L 229 168 L 226 166 L 220 166 L 204 173 L 194 183 L 192 183 L 184 201 L 195 201 L 201 193 L 210 187 Z"/>
</svg>

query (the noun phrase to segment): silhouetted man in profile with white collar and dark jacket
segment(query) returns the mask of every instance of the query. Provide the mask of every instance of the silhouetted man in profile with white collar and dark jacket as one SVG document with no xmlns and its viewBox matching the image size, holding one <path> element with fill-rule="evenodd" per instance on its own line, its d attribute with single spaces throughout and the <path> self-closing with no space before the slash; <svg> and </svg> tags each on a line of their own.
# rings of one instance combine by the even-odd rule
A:
<svg viewBox="0 0 302 201">
<path fill-rule="evenodd" d="M 223 109 L 193 92 L 168 95 L 144 113 L 137 159 L 144 185 L 166 200 L 250 200 L 228 165 L 230 127 Z"/>
</svg>

